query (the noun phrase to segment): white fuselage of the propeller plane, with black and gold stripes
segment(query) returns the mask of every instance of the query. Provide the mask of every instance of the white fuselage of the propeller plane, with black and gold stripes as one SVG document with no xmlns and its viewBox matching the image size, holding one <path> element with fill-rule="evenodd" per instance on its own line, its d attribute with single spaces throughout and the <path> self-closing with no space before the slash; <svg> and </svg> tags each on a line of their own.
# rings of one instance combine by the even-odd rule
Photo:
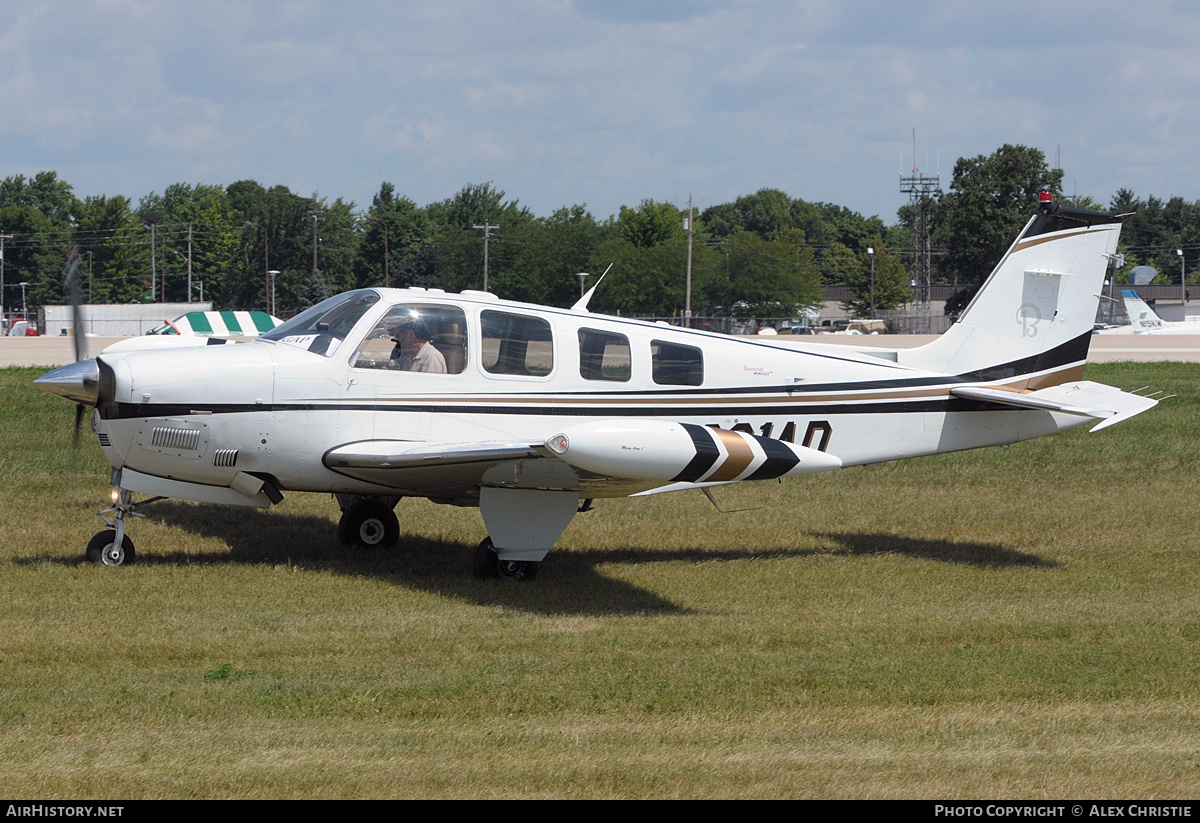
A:
<svg viewBox="0 0 1200 823">
<path fill-rule="evenodd" d="M 970 377 L 906 365 L 904 352 L 797 348 L 485 294 L 352 295 L 366 305 L 332 331 L 310 322 L 238 346 L 102 355 L 107 389 L 92 427 L 106 456 L 115 468 L 215 487 L 247 473 L 281 489 L 469 505 L 480 486 L 469 473 L 396 470 L 372 482 L 376 475 L 347 474 L 325 455 L 368 441 L 539 444 L 581 422 L 647 419 L 744 431 L 853 465 L 1012 443 L 1085 421 L 952 397 Z M 388 318 L 401 311 L 434 324 L 426 344 L 444 352 L 446 373 L 397 367 Z M 538 463 L 529 476 L 512 469 L 511 481 L 488 482 L 581 497 L 655 486 Z"/>
</svg>

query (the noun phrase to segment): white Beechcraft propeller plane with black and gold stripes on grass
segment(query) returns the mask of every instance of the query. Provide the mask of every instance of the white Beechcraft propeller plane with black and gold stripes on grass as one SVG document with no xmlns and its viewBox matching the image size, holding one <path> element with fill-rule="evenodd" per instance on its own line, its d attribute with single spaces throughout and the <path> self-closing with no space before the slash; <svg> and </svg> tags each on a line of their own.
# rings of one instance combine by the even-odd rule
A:
<svg viewBox="0 0 1200 823">
<path fill-rule="evenodd" d="M 404 497 L 478 506 L 488 537 L 474 573 L 528 578 L 593 498 L 1102 420 L 1096 431 L 1145 412 L 1157 401 L 1080 379 L 1120 229 L 1045 198 L 959 322 L 914 349 L 640 323 L 588 312 L 590 292 L 562 310 L 364 289 L 248 343 L 102 353 L 37 384 L 92 407 L 113 464 L 113 528 L 89 543 L 92 561 L 133 559 L 134 493 L 266 507 L 325 492 L 347 547 L 395 546 Z"/>
</svg>

